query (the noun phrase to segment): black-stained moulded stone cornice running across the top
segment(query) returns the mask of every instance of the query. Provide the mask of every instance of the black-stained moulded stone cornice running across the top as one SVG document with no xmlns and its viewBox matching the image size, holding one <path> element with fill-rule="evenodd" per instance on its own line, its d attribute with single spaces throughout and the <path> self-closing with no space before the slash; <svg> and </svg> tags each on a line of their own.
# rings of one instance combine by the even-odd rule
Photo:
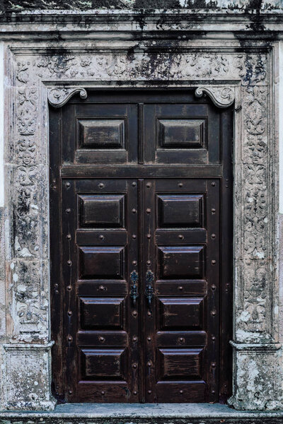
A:
<svg viewBox="0 0 283 424">
<path fill-rule="evenodd" d="M 255 40 L 283 38 L 283 8 L 255 9 L 173 9 L 173 10 L 117 10 L 89 11 L 30 10 L 0 11 L 0 39 L 36 37 L 36 33 L 170 33 L 180 40 L 190 39 L 191 33 L 235 33 L 236 37 Z M 68 26 L 67 26 L 68 24 Z M 48 25 L 48 26 L 47 26 Z M 182 35 L 180 35 L 180 33 Z M 187 34 L 187 37 L 185 36 Z M 214 35 L 211 35 L 213 37 Z M 41 35 L 39 35 L 41 37 Z M 167 35 L 168 37 L 168 35 Z M 226 37 L 226 35 L 224 35 Z M 229 36 L 228 36 L 229 37 Z"/>
</svg>

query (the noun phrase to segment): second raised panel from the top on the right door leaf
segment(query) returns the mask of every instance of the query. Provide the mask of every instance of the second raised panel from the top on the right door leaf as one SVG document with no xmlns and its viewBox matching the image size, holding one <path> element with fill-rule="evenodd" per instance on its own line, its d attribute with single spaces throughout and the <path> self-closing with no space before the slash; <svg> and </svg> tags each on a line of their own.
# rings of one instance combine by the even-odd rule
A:
<svg viewBox="0 0 283 424">
<path fill-rule="evenodd" d="M 204 246 L 159 246 L 160 278 L 203 278 Z"/>
</svg>

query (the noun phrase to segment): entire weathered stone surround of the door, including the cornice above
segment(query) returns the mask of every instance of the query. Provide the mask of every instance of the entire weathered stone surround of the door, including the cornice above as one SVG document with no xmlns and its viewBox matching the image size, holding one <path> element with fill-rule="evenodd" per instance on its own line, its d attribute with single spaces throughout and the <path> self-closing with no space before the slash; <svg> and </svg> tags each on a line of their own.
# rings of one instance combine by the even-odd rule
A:
<svg viewBox="0 0 283 424">
<path fill-rule="evenodd" d="M 119 7 L 125 3 L 121 0 Z M 0 220 L 6 266 L 4 276 L 2 261 L 0 284 L 4 279 L 6 284 L 5 295 L 0 285 L 2 408 L 54 407 L 50 393 L 48 100 L 59 107 L 79 88 L 84 95 L 102 86 L 185 86 L 197 89 L 197 95 L 209 95 L 218 107 L 235 100 L 234 387 L 230 404 L 239 409 L 283 408 L 279 124 L 275 113 L 277 38 L 283 16 L 262 1 L 237 3 L 234 11 L 231 2 L 222 1 L 221 6 L 230 7 L 219 13 L 216 8 L 201 14 L 108 8 L 83 14 L 21 11 L 9 2 L 8 8 L 17 13 L 2 13 L 6 71 L 6 192 Z M 141 7 L 138 4 L 136 0 L 134 5 Z M 244 4 L 258 9 L 239 9 Z M 52 8 L 58 5 L 49 4 Z M 170 2 L 167 6 L 172 7 Z M 260 20 L 255 20 L 258 16 Z"/>
</svg>

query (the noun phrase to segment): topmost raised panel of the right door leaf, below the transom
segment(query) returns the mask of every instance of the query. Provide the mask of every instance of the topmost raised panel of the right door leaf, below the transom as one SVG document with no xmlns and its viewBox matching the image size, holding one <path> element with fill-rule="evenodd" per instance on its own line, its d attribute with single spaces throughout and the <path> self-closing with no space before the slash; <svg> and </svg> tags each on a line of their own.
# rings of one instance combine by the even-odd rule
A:
<svg viewBox="0 0 283 424">
<path fill-rule="evenodd" d="M 159 194 L 158 227 L 203 227 L 203 194 Z"/>
</svg>

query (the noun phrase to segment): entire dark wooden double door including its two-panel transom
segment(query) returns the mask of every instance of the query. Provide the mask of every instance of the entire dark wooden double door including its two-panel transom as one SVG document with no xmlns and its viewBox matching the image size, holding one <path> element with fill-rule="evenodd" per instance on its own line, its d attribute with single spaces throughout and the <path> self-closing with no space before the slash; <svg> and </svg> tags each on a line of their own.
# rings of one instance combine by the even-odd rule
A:
<svg viewBox="0 0 283 424">
<path fill-rule="evenodd" d="M 57 399 L 229 396 L 231 151 L 231 110 L 190 91 L 50 110 Z"/>
</svg>

